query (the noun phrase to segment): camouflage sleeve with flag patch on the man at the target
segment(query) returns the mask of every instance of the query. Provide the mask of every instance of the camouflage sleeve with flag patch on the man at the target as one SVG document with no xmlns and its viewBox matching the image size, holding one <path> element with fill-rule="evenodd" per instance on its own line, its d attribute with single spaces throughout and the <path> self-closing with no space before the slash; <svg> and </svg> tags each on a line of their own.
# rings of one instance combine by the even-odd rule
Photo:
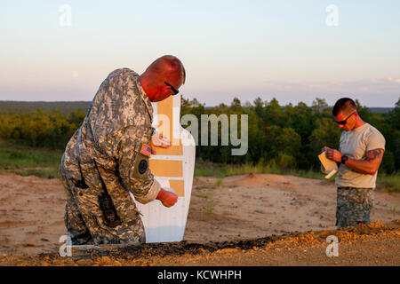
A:
<svg viewBox="0 0 400 284">
<path fill-rule="evenodd" d="M 120 140 L 117 159 L 124 188 L 145 204 L 156 199 L 161 187 L 149 169 L 150 147 L 140 140 L 141 137 L 136 128 L 127 127 Z"/>
</svg>

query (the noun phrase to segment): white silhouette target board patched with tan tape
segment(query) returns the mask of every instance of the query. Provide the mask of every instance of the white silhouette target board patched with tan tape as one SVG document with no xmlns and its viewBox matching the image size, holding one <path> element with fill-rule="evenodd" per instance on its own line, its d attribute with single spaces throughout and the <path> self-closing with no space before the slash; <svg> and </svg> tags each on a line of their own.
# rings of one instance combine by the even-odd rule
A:
<svg viewBox="0 0 400 284">
<path fill-rule="evenodd" d="M 169 138 L 172 146 L 156 147 L 156 154 L 150 157 L 150 170 L 162 187 L 178 194 L 178 201 L 166 208 L 161 201 L 141 204 L 131 196 L 141 213 L 146 242 L 182 241 L 195 172 L 195 139 L 180 126 L 180 94 L 152 105 L 153 127 Z"/>
</svg>

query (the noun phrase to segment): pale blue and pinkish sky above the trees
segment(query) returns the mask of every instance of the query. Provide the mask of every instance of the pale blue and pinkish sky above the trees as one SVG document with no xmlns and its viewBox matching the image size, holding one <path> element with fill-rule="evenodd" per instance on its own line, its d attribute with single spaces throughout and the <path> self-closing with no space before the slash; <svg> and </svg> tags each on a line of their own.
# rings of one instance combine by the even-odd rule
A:
<svg viewBox="0 0 400 284">
<path fill-rule="evenodd" d="M 0 100 L 92 100 L 110 72 L 184 64 L 184 98 L 400 97 L 400 1 L 2 1 Z"/>
</svg>

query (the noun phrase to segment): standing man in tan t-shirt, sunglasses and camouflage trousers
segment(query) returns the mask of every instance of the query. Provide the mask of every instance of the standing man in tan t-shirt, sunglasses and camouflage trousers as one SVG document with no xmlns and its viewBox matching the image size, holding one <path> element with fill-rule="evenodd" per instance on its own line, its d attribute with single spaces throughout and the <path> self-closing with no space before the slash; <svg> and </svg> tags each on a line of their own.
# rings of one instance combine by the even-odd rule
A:
<svg viewBox="0 0 400 284">
<path fill-rule="evenodd" d="M 326 156 L 340 163 L 337 186 L 336 225 L 338 228 L 370 223 L 380 162 L 385 151 L 385 138 L 380 131 L 365 123 L 352 99 L 339 99 L 332 114 L 344 131 L 340 149 L 324 146 Z"/>
</svg>

